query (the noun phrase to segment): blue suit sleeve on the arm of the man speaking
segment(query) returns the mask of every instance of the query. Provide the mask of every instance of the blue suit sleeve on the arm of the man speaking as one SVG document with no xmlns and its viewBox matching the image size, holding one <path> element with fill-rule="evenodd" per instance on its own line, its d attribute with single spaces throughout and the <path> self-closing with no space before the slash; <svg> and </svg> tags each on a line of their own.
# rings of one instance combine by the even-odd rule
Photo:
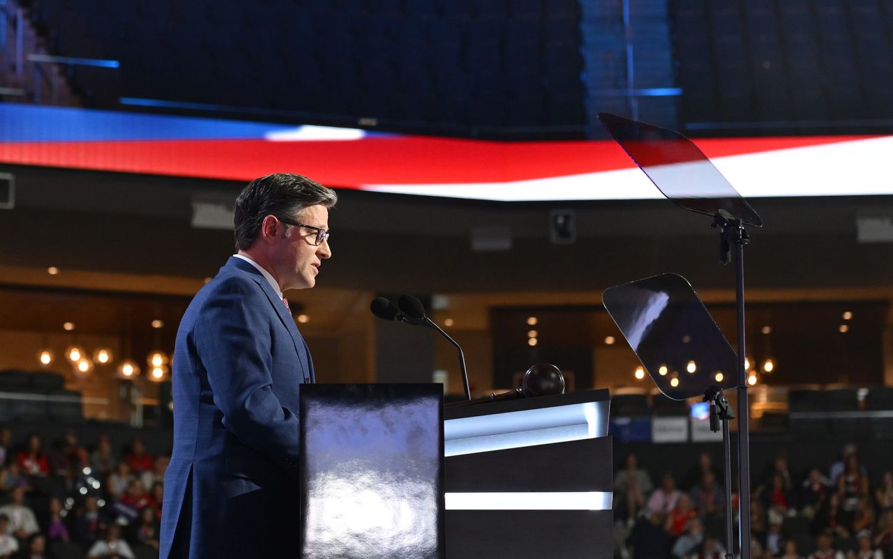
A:
<svg viewBox="0 0 893 559">
<path fill-rule="evenodd" d="M 269 306 L 255 284 L 237 278 L 221 284 L 196 320 L 196 349 L 223 425 L 295 473 L 298 418 L 272 391 Z"/>
</svg>

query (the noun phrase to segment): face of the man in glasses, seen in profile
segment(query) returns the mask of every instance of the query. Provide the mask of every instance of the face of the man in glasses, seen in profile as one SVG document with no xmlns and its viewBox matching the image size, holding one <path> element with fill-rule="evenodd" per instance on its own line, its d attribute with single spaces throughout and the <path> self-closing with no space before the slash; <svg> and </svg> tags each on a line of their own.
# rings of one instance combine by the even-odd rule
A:
<svg viewBox="0 0 893 559">
<path fill-rule="evenodd" d="M 329 209 L 319 204 L 309 206 L 300 211 L 293 220 L 328 231 Z M 285 224 L 282 226 L 285 227 Z M 276 279 L 282 291 L 313 287 L 316 284 L 316 275 L 320 273 L 322 260 L 331 257 L 329 243 L 323 242 L 316 246 L 317 232 L 313 229 L 288 226 L 288 230 L 288 236 L 285 236 L 285 228 L 283 233 L 277 232 L 276 244 L 272 251 Z"/>
</svg>

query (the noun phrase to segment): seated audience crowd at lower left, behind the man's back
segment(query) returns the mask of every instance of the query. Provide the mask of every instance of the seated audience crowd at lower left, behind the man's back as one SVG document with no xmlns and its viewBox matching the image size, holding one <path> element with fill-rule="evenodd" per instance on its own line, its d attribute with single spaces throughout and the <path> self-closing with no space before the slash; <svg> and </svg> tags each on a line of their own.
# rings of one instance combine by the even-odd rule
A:
<svg viewBox="0 0 893 559">
<path fill-rule="evenodd" d="M 0 430 L 0 559 L 148 559 L 158 532 L 169 456 L 135 437 L 122 452 L 65 433 L 15 444 Z"/>
</svg>

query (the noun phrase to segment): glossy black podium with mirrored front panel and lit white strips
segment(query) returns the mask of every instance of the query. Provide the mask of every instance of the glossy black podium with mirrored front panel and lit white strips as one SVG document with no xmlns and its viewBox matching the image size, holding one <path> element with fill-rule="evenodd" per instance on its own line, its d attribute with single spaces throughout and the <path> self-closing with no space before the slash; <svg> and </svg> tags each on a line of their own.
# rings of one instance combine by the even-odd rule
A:
<svg viewBox="0 0 893 559">
<path fill-rule="evenodd" d="M 302 386 L 301 557 L 613 555 L 607 390 L 446 410 L 442 390 Z"/>
</svg>

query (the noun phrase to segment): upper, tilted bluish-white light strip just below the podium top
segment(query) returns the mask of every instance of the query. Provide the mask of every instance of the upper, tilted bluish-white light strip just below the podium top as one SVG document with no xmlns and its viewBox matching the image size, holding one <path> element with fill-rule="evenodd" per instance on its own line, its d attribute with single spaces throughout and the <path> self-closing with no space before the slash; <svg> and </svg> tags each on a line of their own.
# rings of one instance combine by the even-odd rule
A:
<svg viewBox="0 0 893 559">
<path fill-rule="evenodd" d="M 444 455 L 605 437 L 607 414 L 607 402 L 602 401 L 448 419 Z"/>
</svg>

